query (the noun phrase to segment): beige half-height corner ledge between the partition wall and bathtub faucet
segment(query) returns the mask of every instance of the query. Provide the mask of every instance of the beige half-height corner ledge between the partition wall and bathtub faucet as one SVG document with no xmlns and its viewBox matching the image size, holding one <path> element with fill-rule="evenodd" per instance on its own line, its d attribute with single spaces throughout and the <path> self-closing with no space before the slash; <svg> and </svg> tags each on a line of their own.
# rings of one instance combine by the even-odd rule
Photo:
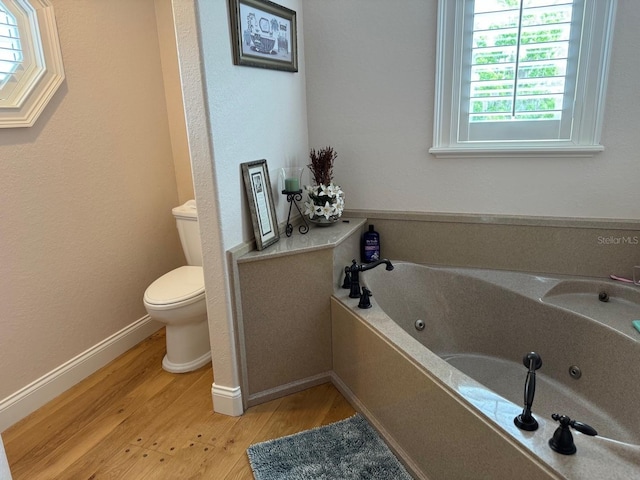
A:
<svg viewBox="0 0 640 480">
<path fill-rule="evenodd" d="M 245 408 L 330 379 L 330 298 L 358 258 L 365 222 L 343 218 L 229 252 Z"/>
</svg>

